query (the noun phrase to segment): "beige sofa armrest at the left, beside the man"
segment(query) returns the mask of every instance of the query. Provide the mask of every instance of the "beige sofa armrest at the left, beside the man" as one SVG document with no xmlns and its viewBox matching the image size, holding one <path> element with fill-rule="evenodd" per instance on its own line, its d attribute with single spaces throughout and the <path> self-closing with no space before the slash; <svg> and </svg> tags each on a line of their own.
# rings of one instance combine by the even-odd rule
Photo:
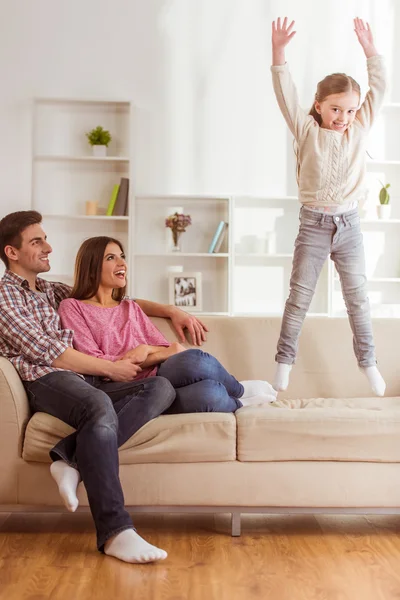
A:
<svg viewBox="0 0 400 600">
<path fill-rule="evenodd" d="M 22 381 L 13 365 L 0 357 L 0 448 L 2 459 L 22 455 L 25 429 L 31 413 Z"/>
</svg>

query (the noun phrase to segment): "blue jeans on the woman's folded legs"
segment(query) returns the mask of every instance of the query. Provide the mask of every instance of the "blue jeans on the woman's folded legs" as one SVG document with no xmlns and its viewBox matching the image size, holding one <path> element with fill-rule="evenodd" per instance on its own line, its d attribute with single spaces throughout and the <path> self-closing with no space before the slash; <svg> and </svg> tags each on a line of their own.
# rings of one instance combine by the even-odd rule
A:
<svg viewBox="0 0 400 600">
<path fill-rule="evenodd" d="M 175 402 L 168 413 L 235 412 L 242 406 L 242 384 L 202 350 L 185 350 L 167 358 L 157 375 L 175 388 Z"/>
</svg>

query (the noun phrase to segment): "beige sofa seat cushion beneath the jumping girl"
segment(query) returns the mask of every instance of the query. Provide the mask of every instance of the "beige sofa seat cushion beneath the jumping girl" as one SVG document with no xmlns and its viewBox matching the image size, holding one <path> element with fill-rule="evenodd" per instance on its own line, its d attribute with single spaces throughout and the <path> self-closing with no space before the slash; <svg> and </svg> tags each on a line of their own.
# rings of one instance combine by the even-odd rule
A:
<svg viewBox="0 0 400 600">
<path fill-rule="evenodd" d="M 241 408 L 240 461 L 400 462 L 400 398 L 281 400 Z"/>
</svg>

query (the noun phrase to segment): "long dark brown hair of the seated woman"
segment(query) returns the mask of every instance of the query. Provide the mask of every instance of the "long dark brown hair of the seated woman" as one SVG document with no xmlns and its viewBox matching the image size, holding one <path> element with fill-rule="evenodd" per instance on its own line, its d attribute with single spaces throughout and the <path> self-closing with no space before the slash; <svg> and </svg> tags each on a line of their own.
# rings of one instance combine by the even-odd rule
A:
<svg viewBox="0 0 400 600">
<path fill-rule="evenodd" d="M 78 250 L 75 259 L 75 281 L 70 298 L 88 300 L 97 294 L 101 281 L 104 253 L 108 244 L 117 244 L 124 252 L 119 240 L 107 236 L 98 236 L 85 240 Z M 125 296 L 126 286 L 116 288 L 112 292 L 114 300 L 120 301 Z"/>
</svg>

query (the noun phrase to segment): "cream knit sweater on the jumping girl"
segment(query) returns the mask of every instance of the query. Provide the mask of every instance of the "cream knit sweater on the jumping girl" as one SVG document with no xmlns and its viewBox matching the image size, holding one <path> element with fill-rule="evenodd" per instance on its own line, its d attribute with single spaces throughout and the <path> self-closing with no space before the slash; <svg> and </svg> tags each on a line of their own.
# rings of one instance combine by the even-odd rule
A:
<svg viewBox="0 0 400 600">
<path fill-rule="evenodd" d="M 355 206 L 365 195 L 366 138 L 382 105 L 386 71 L 382 56 L 367 59 L 369 91 L 349 129 L 324 129 L 298 102 L 287 63 L 272 66 L 279 107 L 297 142 L 299 200 L 324 210 Z"/>
</svg>

